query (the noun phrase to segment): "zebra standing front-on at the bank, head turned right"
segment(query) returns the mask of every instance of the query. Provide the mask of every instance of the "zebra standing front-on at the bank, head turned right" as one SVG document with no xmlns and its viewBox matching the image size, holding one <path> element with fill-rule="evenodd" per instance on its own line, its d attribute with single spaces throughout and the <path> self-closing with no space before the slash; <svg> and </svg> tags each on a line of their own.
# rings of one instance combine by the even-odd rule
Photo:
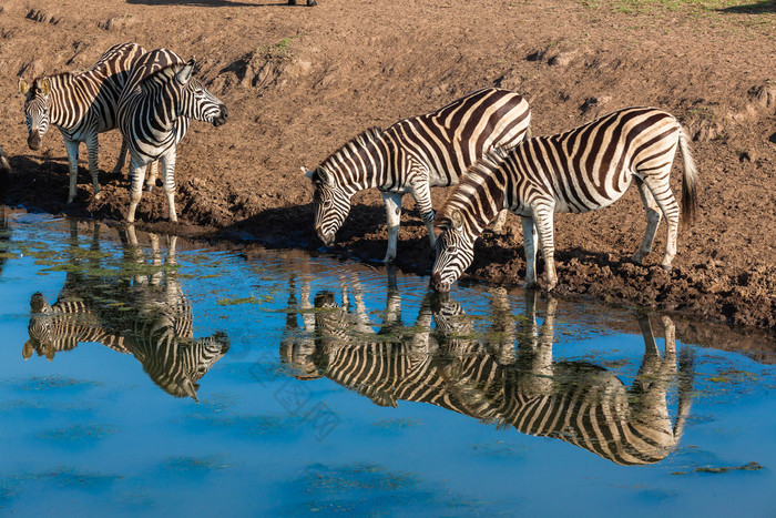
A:
<svg viewBox="0 0 776 518">
<path fill-rule="evenodd" d="M 143 166 L 155 160 L 164 169 L 164 192 L 170 220 L 175 212 L 175 149 L 188 129 L 190 119 L 218 126 L 226 122 L 228 110 L 192 77 L 194 59 L 184 62 L 175 52 L 156 49 L 141 57 L 132 68 L 119 100 L 119 128 L 130 151 L 132 192 L 126 221 L 135 220 L 142 196 Z M 149 179 L 149 190 L 156 182 Z"/>
</svg>

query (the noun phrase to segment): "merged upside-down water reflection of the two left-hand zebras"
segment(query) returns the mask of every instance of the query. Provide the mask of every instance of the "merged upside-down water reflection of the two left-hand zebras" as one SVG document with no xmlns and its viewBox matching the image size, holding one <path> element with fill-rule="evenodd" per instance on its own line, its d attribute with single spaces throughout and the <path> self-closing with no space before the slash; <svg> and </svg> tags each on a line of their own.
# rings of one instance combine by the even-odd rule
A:
<svg viewBox="0 0 776 518">
<path fill-rule="evenodd" d="M 71 246 L 78 248 L 78 227 L 73 223 Z M 92 242 L 88 266 L 101 267 L 99 233 Z M 54 304 L 42 294 L 30 301 L 30 339 L 23 356 L 33 353 L 49 360 L 59 352 L 79 343 L 98 342 L 113 351 L 132 354 L 151 379 L 176 397 L 198 400 L 198 380 L 229 348 L 224 333 L 194 339 L 192 306 L 175 274 L 176 236 L 170 236 L 167 255 L 162 261 L 160 240 L 149 234 L 152 264 L 146 263 L 134 227 L 120 233 L 124 248 L 123 267 L 136 274 L 115 277 L 90 276 L 88 271 L 68 272 Z M 81 251 L 82 252 L 82 251 Z M 82 256 L 83 254 L 78 254 Z M 78 264 L 78 257 L 72 260 Z M 133 267 L 134 265 L 134 267 Z"/>
</svg>

